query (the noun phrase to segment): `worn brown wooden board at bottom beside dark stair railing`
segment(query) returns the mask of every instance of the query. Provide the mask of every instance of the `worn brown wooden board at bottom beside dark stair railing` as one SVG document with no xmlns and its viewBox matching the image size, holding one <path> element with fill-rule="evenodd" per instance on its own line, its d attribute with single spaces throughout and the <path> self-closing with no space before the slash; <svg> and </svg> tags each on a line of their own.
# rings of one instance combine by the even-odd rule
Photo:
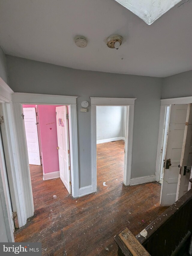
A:
<svg viewBox="0 0 192 256">
<path fill-rule="evenodd" d="M 138 242 L 135 236 L 131 233 L 131 231 L 126 228 L 119 234 L 120 240 L 124 243 L 124 245 L 128 248 L 128 251 L 131 252 L 133 256 L 150 256 L 149 252 L 143 247 L 143 245 Z"/>
</svg>

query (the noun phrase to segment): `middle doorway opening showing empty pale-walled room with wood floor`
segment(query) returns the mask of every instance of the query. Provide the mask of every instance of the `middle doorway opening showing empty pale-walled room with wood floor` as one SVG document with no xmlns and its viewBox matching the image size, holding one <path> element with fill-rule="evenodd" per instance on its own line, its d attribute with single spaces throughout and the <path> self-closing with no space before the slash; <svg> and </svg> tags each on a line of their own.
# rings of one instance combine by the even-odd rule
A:
<svg viewBox="0 0 192 256">
<path fill-rule="evenodd" d="M 97 190 L 123 184 L 126 106 L 97 106 Z"/>
</svg>

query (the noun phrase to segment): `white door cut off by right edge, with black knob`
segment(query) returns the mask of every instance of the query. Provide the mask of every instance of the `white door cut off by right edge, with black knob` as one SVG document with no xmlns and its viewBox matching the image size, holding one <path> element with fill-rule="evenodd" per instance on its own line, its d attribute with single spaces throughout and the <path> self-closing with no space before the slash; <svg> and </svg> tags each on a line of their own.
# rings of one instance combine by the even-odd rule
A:
<svg viewBox="0 0 192 256">
<path fill-rule="evenodd" d="M 188 191 L 192 165 L 192 104 L 188 104 L 176 200 Z"/>
</svg>

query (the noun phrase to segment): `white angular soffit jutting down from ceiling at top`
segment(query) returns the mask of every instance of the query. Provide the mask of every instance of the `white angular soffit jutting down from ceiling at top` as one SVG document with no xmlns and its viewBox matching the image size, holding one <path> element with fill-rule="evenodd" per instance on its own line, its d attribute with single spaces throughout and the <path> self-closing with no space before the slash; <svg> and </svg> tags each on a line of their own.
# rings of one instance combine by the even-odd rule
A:
<svg viewBox="0 0 192 256">
<path fill-rule="evenodd" d="M 148 25 L 169 11 L 182 0 L 115 0 L 128 10 L 132 11 Z"/>
</svg>

